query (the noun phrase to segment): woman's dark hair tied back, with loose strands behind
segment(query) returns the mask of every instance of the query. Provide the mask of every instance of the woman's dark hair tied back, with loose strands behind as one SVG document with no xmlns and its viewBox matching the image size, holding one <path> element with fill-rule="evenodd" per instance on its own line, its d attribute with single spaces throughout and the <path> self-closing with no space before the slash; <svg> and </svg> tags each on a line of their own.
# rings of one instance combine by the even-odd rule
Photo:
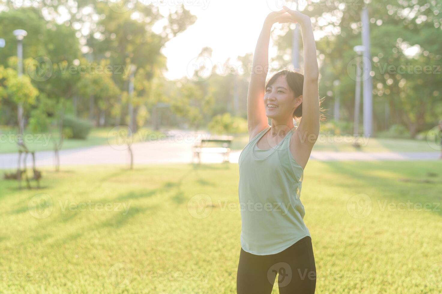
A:
<svg viewBox="0 0 442 294">
<path fill-rule="evenodd" d="M 301 69 L 282 69 L 279 72 L 275 73 L 270 80 L 266 84 L 266 88 L 271 84 L 273 84 L 279 76 L 285 76 L 287 80 L 287 84 L 289 84 L 290 89 L 292 89 L 294 93 L 293 98 L 297 98 L 302 95 L 302 89 L 304 87 L 304 74 Z M 325 99 L 319 100 L 319 105 L 321 105 L 322 101 Z M 324 111 L 324 109 L 320 108 L 320 111 Z M 302 102 L 296 107 L 295 111 L 293 111 L 293 118 L 299 124 L 302 117 Z M 325 121 L 325 116 L 320 113 L 319 118 L 321 121 Z"/>
</svg>

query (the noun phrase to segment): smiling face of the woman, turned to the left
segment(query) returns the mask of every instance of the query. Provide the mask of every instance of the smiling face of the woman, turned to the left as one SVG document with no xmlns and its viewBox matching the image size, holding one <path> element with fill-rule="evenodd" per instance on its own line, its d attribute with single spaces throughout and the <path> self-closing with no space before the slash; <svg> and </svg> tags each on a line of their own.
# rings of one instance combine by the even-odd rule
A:
<svg viewBox="0 0 442 294">
<path fill-rule="evenodd" d="M 286 77 L 278 76 L 275 82 L 265 89 L 264 105 L 267 117 L 280 119 L 293 117 L 293 111 L 297 107 L 293 95 Z"/>
</svg>

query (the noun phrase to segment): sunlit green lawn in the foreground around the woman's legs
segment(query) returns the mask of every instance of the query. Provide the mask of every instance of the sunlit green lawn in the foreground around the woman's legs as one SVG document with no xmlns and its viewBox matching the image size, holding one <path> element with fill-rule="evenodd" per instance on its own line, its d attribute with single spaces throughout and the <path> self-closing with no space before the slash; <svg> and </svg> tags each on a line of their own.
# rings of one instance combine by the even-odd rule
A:
<svg viewBox="0 0 442 294">
<path fill-rule="evenodd" d="M 43 176 L 39 190 L 0 181 L 2 293 L 236 293 L 237 164 Z M 311 160 L 316 293 L 441 293 L 440 191 L 438 162 Z M 198 195 L 212 206 L 196 211 Z"/>
</svg>

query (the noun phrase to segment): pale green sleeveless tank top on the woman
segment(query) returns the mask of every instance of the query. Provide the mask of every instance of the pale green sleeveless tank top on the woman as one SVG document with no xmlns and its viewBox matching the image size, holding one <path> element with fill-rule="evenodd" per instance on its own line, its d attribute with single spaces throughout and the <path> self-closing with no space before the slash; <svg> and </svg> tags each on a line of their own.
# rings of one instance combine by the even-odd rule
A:
<svg viewBox="0 0 442 294">
<path fill-rule="evenodd" d="M 238 194 L 241 211 L 241 247 L 255 255 L 283 251 L 306 236 L 301 203 L 304 169 L 290 153 L 293 127 L 271 149 L 256 143 L 267 126 L 244 147 L 239 158 Z"/>
</svg>

